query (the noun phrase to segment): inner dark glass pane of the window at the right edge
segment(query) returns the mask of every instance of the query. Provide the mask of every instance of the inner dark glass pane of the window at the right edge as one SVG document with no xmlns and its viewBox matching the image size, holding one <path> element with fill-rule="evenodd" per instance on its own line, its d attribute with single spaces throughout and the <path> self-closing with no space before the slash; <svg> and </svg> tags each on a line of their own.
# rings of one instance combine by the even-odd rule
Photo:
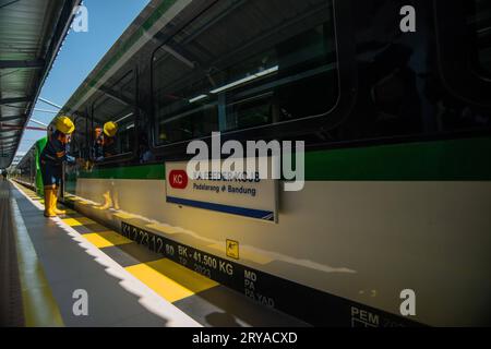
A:
<svg viewBox="0 0 491 349">
<path fill-rule="evenodd" d="M 466 3 L 467 25 L 474 36 L 475 70 L 481 75 L 491 76 L 491 2 L 475 0 Z"/>
</svg>

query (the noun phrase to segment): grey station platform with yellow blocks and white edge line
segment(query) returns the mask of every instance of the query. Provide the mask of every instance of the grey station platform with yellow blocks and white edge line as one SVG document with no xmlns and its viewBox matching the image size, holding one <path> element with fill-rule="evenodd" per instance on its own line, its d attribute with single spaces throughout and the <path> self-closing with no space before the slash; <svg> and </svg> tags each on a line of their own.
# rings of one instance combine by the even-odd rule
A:
<svg viewBox="0 0 491 349">
<path fill-rule="evenodd" d="M 2 326 L 308 326 L 115 230 L 0 183 Z"/>
</svg>

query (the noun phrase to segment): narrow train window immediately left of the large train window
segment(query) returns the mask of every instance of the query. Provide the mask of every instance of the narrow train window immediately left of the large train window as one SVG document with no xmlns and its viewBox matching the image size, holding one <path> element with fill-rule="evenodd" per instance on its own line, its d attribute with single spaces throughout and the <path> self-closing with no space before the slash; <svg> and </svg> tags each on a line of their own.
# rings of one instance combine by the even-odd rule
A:
<svg viewBox="0 0 491 349">
<path fill-rule="evenodd" d="M 132 153 L 134 148 L 135 79 L 133 72 L 111 87 L 99 87 L 101 96 L 94 103 L 92 157 L 104 160 Z M 112 137 L 103 136 L 107 122 L 117 124 Z"/>
</svg>

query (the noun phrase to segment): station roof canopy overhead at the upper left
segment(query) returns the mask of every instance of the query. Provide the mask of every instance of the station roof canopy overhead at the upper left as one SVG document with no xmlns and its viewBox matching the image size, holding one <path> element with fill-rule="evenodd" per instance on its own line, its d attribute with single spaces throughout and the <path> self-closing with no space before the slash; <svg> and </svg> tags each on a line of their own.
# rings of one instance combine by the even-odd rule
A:
<svg viewBox="0 0 491 349">
<path fill-rule="evenodd" d="M 0 169 L 17 151 L 81 0 L 0 0 Z"/>
</svg>

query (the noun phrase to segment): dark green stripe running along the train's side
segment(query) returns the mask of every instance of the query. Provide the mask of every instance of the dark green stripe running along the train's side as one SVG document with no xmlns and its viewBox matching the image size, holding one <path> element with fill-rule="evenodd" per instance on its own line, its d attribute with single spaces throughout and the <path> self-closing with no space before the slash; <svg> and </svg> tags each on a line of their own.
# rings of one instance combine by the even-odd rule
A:
<svg viewBox="0 0 491 349">
<path fill-rule="evenodd" d="M 308 181 L 491 180 L 491 139 L 328 149 L 306 154 Z M 96 169 L 81 178 L 164 180 L 163 164 Z"/>
</svg>

